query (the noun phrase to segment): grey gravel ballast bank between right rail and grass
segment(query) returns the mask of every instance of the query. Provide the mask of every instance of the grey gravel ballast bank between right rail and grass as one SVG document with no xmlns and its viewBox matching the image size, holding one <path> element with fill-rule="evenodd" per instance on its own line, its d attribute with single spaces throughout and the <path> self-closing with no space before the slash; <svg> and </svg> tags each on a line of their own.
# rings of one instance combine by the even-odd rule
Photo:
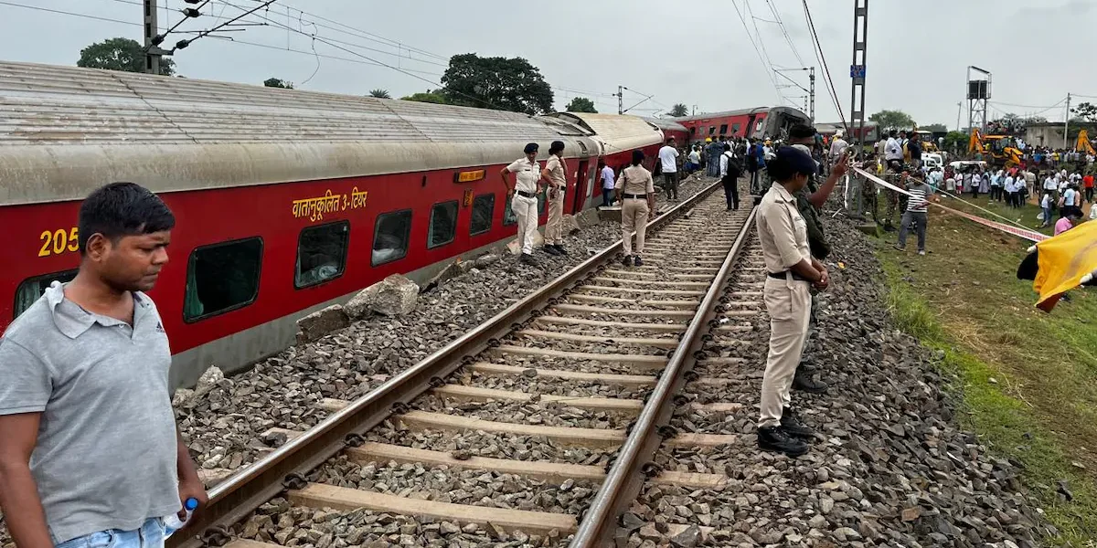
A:
<svg viewBox="0 0 1097 548">
<path fill-rule="evenodd" d="M 678 534 L 667 524 L 693 526 L 674 546 L 1040 546 L 1053 529 L 1025 494 L 1019 469 L 957 426 L 955 403 L 942 390 L 948 379 L 935 365 L 939 356 L 894 327 L 871 244 L 844 219 L 828 219 L 827 235 L 833 282 L 822 296 L 821 336 L 808 361 L 830 389 L 793 392 L 801 420 L 816 431 L 812 450 L 790 459 L 757 448 L 769 336 L 761 312 L 749 319 L 754 331 L 736 334 L 747 350 L 723 353 L 747 363 L 699 368 L 730 379 L 724 401 L 744 408 L 680 409 L 674 418 L 683 430 L 738 434 L 737 443 L 656 455 L 667 469 L 725 475 L 727 486 L 645 486 L 624 521 L 631 529 L 621 532 L 627 546 L 661 546 Z M 687 385 L 690 390 L 695 387 Z"/>
</svg>

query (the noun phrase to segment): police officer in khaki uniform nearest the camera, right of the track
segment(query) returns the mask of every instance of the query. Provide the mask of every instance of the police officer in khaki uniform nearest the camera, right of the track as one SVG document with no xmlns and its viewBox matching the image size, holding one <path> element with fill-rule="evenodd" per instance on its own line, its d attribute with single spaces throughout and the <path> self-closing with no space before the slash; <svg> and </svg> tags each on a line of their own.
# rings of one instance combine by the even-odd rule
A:
<svg viewBox="0 0 1097 548">
<path fill-rule="evenodd" d="M 758 205 L 756 217 L 769 272 L 762 295 L 770 318 L 758 447 L 795 457 L 808 450 L 799 438 L 813 433 L 788 409 L 789 390 L 807 339 L 811 289 L 826 289 L 829 278 L 826 267 L 812 258 L 806 221 L 795 198 L 816 172 L 815 160 L 795 148 L 781 147 L 767 162 L 767 169 L 773 183 Z M 830 176 L 841 176 L 846 169 L 845 164 L 835 165 Z"/>
</svg>

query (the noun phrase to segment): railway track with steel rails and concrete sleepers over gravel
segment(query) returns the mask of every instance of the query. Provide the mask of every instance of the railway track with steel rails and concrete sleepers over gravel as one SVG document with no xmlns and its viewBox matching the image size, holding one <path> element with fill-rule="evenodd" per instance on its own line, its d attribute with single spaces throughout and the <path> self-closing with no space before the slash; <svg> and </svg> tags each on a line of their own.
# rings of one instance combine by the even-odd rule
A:
<svg viewBox="0 0 1097 548">
<path fill-rule="evenodd" d="M 740 358 L 720 347 L 745 349 L 739 320 L 759 313 L 758 267 L 735 271 L 753 214 L 716 189 L 656 219 L 644 266 L 608 248 L 362 398 L 318 402 L 316 427 L 268 433 L 285 443 L 169 545 L 598 546 L 641 490 L 717 487 L 674 452 L 737 437 L 671 416 L 735 406 L 719 373 Z M 683 385 L 717 396 L 676 398 Z"/>
</svg>

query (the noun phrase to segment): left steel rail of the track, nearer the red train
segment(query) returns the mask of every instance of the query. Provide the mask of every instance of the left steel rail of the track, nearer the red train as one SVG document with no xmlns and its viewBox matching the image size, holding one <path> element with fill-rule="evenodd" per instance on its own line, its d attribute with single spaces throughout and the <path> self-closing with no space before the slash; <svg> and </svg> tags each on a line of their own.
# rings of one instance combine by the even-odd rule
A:
<svg viewBox="0 0 1097 548">
<path fill-rule="evenodd" d="M 721 186 L 713 183 L 690 198 L 656 217 L 648 225 L 659 229 L 708 197 Z M 304 486 L 304 476 L 348 446 L 361 442 L 361 435 L 376 426 L 408 402 L 432 388 L 433 384 L 464 365 L 466 358 L 498 344 L 518 323 L 596 274 L 621 250 L 621 240 L 599 251 L 545 286 L 514 302 L 486 322 L 473 328 L 421 362 L 392 377 L 354 400 L 298 437 L 262 459 L 230 476 L 210 491 L 210 502 L 188 527 L 168 539 L 168 548 L 224 546 L 228 527 L 244 520 L 267 501 L 291 486 Z M 189 535 L 184 536 L 183 533 Z"/>
</svg>

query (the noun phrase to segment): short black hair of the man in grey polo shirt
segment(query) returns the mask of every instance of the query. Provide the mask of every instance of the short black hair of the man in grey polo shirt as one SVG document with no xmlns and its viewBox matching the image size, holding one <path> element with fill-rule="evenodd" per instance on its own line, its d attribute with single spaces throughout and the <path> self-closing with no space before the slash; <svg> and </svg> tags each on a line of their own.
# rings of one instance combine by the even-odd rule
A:
<svg viewBox="0 0 1097 548">
<path fill-rule="evenodd" d="M 148 189 L 134 183 L 111 183 L 89 194 L 80 204 L 78 226 L 80 255 L 83 255 L 93 235 L 103 235 L 116 243 L 126 236 L 171 230 L 176 216 Z"/>
</svg>

